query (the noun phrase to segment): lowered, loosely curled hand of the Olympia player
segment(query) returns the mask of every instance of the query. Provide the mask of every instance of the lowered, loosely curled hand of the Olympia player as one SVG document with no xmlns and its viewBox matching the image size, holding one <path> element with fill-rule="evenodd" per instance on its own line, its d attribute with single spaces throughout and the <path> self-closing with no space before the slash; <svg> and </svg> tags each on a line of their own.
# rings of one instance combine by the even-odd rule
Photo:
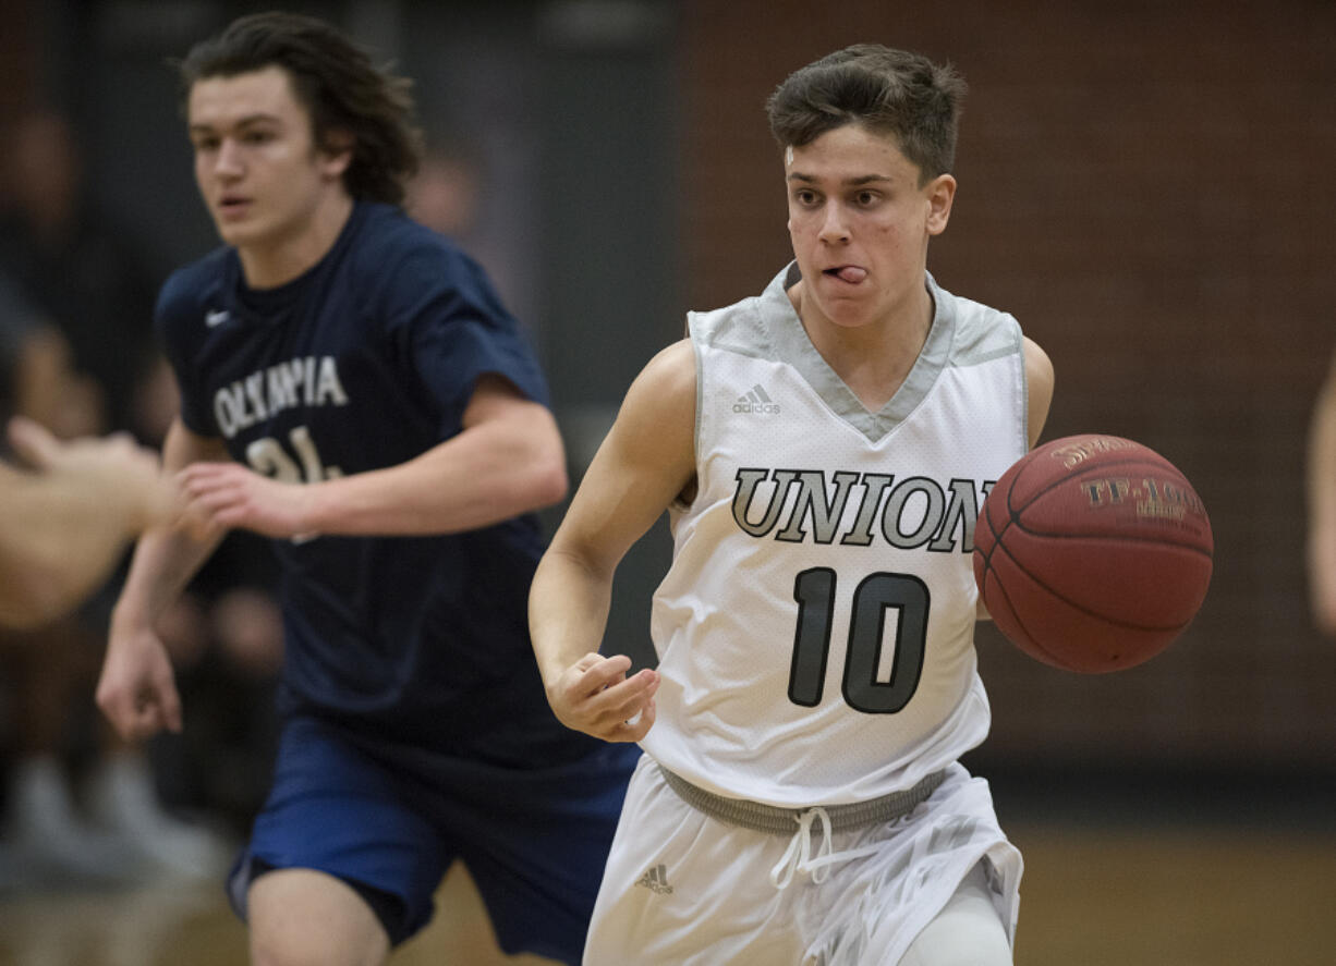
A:
<svg viewBox="0 0 1336 966">
<path fill-rule="evenodd" d="M 127 740 L 180 731 L 180 695 L 171 660 L 151 628 L 112 629 L 98 681 L 98 707 Z"/>
</svg>

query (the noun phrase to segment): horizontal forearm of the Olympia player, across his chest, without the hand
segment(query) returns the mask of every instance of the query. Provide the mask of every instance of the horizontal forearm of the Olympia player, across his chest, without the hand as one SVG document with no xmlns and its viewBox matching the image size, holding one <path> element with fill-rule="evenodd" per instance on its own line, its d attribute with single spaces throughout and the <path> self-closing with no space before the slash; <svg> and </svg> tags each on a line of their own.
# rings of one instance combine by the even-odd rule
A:
<svg viewBox="0 0 1336 966">
<path fill-rule="evenodd" d="M 366 536 L 458 533 L 550 506 L 566 492 L 554 426 L 498 420 L 398 466 L 309 488 L 305 530 Z"/>
</svg>

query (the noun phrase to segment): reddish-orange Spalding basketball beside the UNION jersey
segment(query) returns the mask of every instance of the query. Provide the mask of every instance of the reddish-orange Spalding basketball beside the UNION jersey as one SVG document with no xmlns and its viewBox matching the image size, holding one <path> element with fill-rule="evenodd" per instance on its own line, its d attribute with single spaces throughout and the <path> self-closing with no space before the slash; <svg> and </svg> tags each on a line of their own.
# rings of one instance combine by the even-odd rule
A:
<svg viewBox="0 0 1336 966">
<path fill-rule="evenodd" d="M 1213 553 L 1206 509 L 1172 462 L 1132 440 L 1069 436 L 1027 453 L 989 492 L 974 580 L 1027 655 L 1102 673 L 1182 633 Z"/>
</svg>

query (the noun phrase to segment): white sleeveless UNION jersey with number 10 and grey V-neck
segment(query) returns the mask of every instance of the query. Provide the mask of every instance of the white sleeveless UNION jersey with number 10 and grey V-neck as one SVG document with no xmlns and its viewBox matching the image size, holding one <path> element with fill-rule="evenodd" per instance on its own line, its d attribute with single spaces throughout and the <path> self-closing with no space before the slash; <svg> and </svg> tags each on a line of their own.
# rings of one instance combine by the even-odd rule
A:
<svg viewBox="0 0 1336 966">
<path fill-rule="evenodd" d="M 786 289 L 691 313 L 696 473 L 671 512 L 641 742 L 728 798 L 810 807 L 911 787 L 983 740 L 971 550 L 1026 444 L 1015 319 L 929 278 L 927 342 L 867 412 Z"/>
</svg>

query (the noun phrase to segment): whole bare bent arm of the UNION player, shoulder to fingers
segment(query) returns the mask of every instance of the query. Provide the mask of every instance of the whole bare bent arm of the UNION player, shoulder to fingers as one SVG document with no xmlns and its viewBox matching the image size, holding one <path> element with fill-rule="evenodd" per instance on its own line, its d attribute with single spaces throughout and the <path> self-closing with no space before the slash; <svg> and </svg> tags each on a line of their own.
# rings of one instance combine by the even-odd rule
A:
<svg viewBox="0 0 1336 966">
<path fill-rule="evenodd" d="M 695 357 L 679 342 L 632 383 L 533 579 L 529 632 L 548 701 L 595 738 L 636 742 L 653 724 L 659 673 L 628 679 L 631 659 L 603 657 L 599 645 L 617 564 L 693 484 L 695 422 Z"/>
</svg>

